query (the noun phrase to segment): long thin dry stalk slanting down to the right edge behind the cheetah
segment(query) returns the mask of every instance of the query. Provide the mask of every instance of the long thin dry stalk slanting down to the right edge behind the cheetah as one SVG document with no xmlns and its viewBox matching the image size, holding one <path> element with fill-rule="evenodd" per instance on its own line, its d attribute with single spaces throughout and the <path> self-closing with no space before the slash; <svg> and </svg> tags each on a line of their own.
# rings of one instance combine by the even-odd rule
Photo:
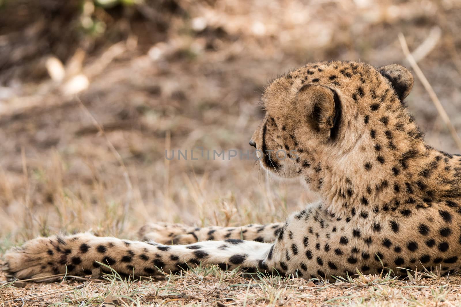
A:
<svg viewBox="0 0 461 307">
<path fill-rule="evenodd" d="M 427 93 L 431 97 L 432 102 L 434 103 L 438 111 L 438 114 L 440 115 L 440 117 L 442 117 L 443 122 L 445 123 L 451 134 L 451 137 L 453 138 L 459 150 L 461 151 L 461 139 L 458 136 L 458 133 L 456 133 L 455 126 L 453 126 L 452 122 L 450 121 L 450 118 L 448 117 L 447 112 L 445 111 L 445 109 L 443 109 L 443 105 L 440 103 L 440 100 L 438 100 L 437 95 L 434 92 L 434 89 L 431 87 L 431 84 L 429 83 L 429 81 L 427 81 L 426 76 L 423 74 L 422 70 L 412 57 L 410 50 L 408 49 L 407 41 L 405 40 L 405 36 L 403 36 L 402 33 L 399 33 L 399 41 L 400 45 L 402 46 L 403 53 L 407 57 L 408 63 L 410 63 L 414 72 L 416 73 L 424 88 L 426 89 Z"/>
</svg>

